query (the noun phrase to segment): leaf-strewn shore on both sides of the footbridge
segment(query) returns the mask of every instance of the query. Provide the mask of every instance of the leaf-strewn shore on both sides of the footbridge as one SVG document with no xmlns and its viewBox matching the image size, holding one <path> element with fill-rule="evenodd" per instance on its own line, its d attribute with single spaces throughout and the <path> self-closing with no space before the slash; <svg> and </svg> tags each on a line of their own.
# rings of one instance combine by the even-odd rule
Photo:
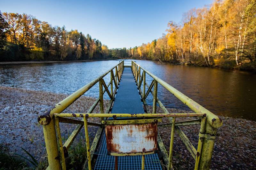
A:
<svg viewBox="0 0 256 170">
<path fill-rule="evenodd" d="M 14 152 L 22 152 L 25 148 L 36 159 L 45 152 L 42 126 L 37 117 L 45 110 L 54 106 L 68 95 L 44 91 L 34 91 L 11 87 L 0 87 L 0 141 L 11 145 Z M 65 112 L 86 112 L 95 98 L 82 96 Z M 104 102 L 105 108 L 107 102 Z M 168 109 L 172 113 L 188 111 Z M 96 107 L 94 112 L 99 112 Z M 158 112 L 161 111 L 158 109 Z M 256 122 L 221 117 L 223 126 L 218 130 L 214 145 L 211 169 L 254 169 L 256 167 Z M 182 120 L 179 118 L 177 121 Z M 98 118 L 91 122 L 99 122 Z M 166 122 L 167 120 L 164 119 Z M 75 128 L 71 124 L 61 124 L 61 132 L 65 138 Z M 195 147 L 198 142 L 199 125 L 181 127 Z M 90 126 L 90 139 L 94 138 L 95 127 Z M 162 139 L 169 150 L 171 128 L 159 128 Z M 81 132 L 84 132 L 82 129 Z M 173 163 L 177 169 L 194 169 L 194 159 L 185 148 L 177 134 L 174 135 Z"/>
</svg>

